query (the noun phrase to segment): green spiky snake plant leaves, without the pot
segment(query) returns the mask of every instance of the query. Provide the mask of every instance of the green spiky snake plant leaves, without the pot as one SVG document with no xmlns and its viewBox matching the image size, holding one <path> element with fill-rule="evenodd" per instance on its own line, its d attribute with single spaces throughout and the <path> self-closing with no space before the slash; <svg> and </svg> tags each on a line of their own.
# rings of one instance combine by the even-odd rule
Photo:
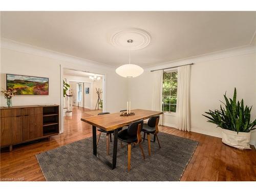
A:
<svg viewBox="0 0 256 192">
<path fill-rule="evenodd" d="M 237 100 L 237 90 L 234 88 L 233 99 L 228 99 L 226 93 L 224 95 L 226 103 L 222 102 L 225 107 L 220 106 L 220 110 L 214 110 L 205 112 L 207 115 L 203 115 L 208 118 L 207 122 L 217 124 L 219 127 L 225 130 L 231 130 L 235 132 L 250 132 L 255 130 L 253 128 L 256 125 L 256 119 L 250 121 L 250 112 L 252 106 L 244 107 L 244 100 L 241 102 L 236 102 Z M 217 127 L 218 127 L 217 126 Z"/>
</svg>

